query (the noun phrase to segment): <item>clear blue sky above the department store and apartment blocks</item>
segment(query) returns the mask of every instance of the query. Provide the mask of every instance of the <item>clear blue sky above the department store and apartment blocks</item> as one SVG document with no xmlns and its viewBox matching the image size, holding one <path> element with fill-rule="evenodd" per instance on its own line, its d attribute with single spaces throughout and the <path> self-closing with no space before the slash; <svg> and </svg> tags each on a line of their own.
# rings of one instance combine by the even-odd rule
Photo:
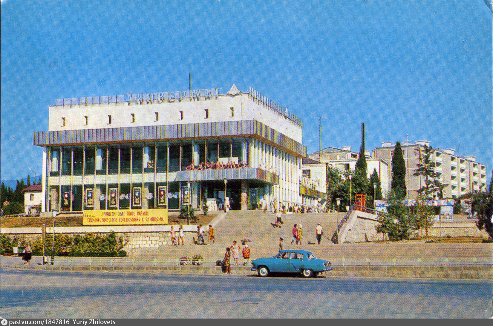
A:
<svg viewBox="0 0 493 326">
<path fill-rule="evenodd" d="M 488 0 L 486 0 L 488 2 Z M 56 98 L 251 86 L 322 148 L 427 139 L 492 170 L 492 11 L 470 1 L 1 2 L 1 179 Z"/>
</svg>

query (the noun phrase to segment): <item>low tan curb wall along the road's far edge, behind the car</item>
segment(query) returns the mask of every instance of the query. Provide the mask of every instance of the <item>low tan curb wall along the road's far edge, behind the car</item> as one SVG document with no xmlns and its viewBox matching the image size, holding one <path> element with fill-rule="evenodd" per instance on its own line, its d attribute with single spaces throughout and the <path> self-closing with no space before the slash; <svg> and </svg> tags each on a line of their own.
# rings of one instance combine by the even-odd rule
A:
<svg viewBox="0 0 493 326">
<path fill-rule="evenodd" d="M 157 272 L 170 274 L 222 274 L 220 266 L 94 266 L 94 265 L 4 265 L 2 267 L 53 270 L 53 271 L 106 271 L 106 272 Z M 233 275 L 256 275 L 249 266 L 231 266 Z M 335 266 L 325 276 L 331 277 L 374 277 L 409 279 L 467 279 L 493 280 L 492 265 L 470 266 Z"/>
</svg>

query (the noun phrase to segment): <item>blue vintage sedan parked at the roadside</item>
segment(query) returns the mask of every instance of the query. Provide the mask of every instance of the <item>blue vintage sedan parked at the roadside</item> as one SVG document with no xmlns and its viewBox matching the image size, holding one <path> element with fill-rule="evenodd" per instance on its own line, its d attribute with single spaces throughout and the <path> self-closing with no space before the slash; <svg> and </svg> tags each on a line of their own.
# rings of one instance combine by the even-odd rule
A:
<svg viewBox="0 0 493 326">
<path fill-rule="evenodd" d="M 315 276 L 332 269 L 330 261 L 317 259 L 306 250 L 281 250 L 276 256 L 251 261 L 251 270 L 259 276 L 269 276 L 270 272 L 301 273 L 304 277 Z"/>
</svg>

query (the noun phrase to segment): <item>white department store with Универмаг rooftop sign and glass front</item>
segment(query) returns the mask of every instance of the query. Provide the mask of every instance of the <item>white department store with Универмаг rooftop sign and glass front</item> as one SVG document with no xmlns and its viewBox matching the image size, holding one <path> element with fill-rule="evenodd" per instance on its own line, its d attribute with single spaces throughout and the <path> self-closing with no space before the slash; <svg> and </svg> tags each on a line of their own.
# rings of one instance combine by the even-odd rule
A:
<svg viewBox="0 0 493 326">
<path fill-rule="evenodd" d="M 254 209 L 262 197 L 301 204 L 301 142 L 301 119 L 235 85 L 227 94 L 57 99 L 48 131 L 34 133 L 42 211 L 200 208 L 224 200 L 225 186 L 233 210 Z"/>
</svg>

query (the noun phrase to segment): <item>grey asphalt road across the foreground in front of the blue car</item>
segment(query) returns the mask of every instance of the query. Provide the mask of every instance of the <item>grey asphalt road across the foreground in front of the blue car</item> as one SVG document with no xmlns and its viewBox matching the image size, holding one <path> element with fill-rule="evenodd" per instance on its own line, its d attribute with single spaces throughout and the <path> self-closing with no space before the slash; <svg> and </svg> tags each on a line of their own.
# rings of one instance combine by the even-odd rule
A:
<svg viewBox="0 0 493 326">
<path fill-rule="evenodd" d="M 1 268 L 2 318 L 473 318 L 491 281 L 60 272 Z"/>
</svg>

